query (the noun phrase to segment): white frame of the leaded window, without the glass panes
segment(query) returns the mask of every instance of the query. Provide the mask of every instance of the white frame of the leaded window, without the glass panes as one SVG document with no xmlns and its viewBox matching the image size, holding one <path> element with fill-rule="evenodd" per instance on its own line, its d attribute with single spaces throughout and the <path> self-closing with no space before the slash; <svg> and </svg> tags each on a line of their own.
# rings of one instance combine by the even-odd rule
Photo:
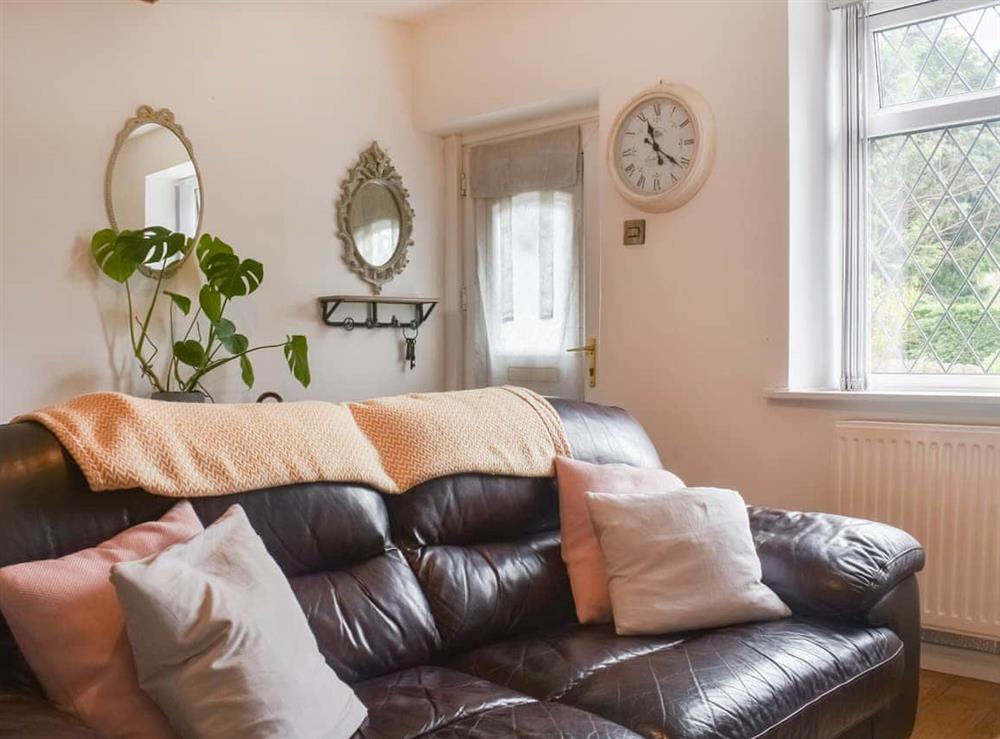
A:
<svg viewBox="0 0 1000 739">
<path fill-rule="evenodd" d="M 878 80 L 876 34 L 892 28 L 956 15 L 996 5 L 996 0 L 872 0 L 868 6 L 865 28 L 865 132 L 864 147 L 873 139 L 919 131 L 937 130 L 1000 119 L 1000 88 L 962 93 L 932 100 L 882 107 Z M 867 168 L 867 155 L 865 157 Z M 867 175 L 866 175 L 867 177 Z M 867 201 L 868 195 L 865 194 Z M 866 216 L 867 218 L 867 216 Z M 865 260 L 870 269 L 870 247 L 865 237 Z M 866 325 L 855 327 L 871 341 L 871 310 L 865 294 Z M 844 330 L 850 330 L 848 326 Z M 867 352 L 867 386 L 871 390 L 920 390 L 941 392 L 993 391 L 1000 393 L 1000 374 L 946 373 L 875 373 L 871 368 L 870 346 Z"/>
</svg>

